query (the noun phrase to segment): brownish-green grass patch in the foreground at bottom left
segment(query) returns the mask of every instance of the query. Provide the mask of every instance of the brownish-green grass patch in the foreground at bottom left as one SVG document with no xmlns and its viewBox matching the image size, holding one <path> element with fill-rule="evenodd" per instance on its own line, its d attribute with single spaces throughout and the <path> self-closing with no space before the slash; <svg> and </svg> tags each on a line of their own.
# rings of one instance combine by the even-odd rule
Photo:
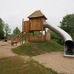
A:
<svg viewBox="0 0 74 74">
<path fill-rule="evenodd" d="M 58 74 L 52 69 L 45 68 L 38 62 L 24 62 L 20 57 L 0 59 L 0 74 Z"/>
</svg>

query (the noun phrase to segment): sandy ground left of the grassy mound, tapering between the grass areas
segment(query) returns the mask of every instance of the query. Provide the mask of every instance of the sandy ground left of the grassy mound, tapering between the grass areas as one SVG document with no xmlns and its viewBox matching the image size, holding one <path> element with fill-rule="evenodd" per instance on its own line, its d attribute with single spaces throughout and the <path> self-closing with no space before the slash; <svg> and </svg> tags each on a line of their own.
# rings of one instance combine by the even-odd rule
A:
<svg viewBox="0 0 74 74">
<path fill-rule="evenodd" d="M 19 45 L 20 45 L 20 43 L 17 44 L 17 46 L 19 46 Z M 11 46 L 10 41 L 8 41 L 8 42 L 0 41 L 0 58 L 19 56 L 19 57 L 23 58 L 24 60 L 29 60 L 30 59 L 29 56 L 20 56 L 11 51 L 12 48 L 15 48 L 17 46 L 16 45 Z"/>
</svg>

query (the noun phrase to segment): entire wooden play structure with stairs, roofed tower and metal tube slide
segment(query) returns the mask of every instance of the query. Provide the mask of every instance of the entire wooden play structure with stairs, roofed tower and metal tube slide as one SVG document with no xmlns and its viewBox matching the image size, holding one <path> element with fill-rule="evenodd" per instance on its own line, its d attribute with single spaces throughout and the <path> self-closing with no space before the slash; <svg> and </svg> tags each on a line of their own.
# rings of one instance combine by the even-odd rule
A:
<svg viewBox="0 0 74 74">
<path fill-rule="evenodd" d="M 50 25 L 46 22 L 47 18 L 40 10 L 35 11 L 29 20 L 22 20 L 22 33 L 15 37 L 14 43 L 21 42 L 41 42 L 48 40 L 46 28 L 53 30 L 64 38 L 64 56 L 74 56 L 74 42 L 71 36 L 61 28 Z M 43 34 L 44 32 L 44 34 Z"/>
</svg>

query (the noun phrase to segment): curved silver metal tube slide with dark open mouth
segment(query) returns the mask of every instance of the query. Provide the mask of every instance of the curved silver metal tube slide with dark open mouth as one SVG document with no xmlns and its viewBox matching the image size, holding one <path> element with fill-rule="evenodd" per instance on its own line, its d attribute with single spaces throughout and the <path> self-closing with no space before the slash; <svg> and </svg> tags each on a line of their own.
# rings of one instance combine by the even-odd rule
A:
<svg viewBox="0 0 74 74">
<path fill-rule="evenodd" d="M 64 38 L 64 56 L 74 57 L 74 42 L 71 36 L 58 26 L 50 25 L 47 22 L 44 22 L 44 26 L 53 30 Z"/>
</svg>

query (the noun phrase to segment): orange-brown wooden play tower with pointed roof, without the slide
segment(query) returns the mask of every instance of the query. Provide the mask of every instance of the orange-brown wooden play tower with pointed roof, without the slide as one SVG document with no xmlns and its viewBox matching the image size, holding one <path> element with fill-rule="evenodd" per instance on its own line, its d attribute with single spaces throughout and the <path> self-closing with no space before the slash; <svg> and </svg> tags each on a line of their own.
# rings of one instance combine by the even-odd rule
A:
<svg viewBox="0 0 74 74">
<path fill-rule="evenodd" d="M 22 21 L 22 33 L 25 34 L 26 42 L 46 41 L 46 28 L 43 23 L 47 20 L 45 15 L 37 10 L 28 16 L 29 20 Z"/>
</svg>

